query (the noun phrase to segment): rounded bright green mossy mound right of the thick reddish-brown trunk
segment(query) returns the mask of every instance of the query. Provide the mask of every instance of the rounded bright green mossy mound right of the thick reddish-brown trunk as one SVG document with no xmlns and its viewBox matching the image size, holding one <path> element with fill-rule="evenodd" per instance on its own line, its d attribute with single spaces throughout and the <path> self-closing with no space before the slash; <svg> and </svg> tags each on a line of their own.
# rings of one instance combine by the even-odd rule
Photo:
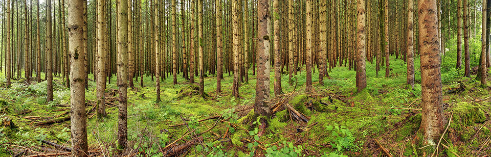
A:
<svg viewBox="0 0 491 157">
<path fill-rule="evenodd" d="M 470 126 L 474 125 L 474 123 L 483 123 L 486 121 L 486 116 L 481 108 L 469 102 L 457 103 L 453 111 L 453 120 L 464 126 Z"/>
</svg>

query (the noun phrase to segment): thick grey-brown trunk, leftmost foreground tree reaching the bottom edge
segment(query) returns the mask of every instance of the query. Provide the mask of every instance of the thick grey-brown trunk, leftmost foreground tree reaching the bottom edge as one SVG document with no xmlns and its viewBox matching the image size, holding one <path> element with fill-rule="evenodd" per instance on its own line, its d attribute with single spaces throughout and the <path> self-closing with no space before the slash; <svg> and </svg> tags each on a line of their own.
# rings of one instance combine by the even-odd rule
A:
<svg viewBox="0 0 491 157">
<path fill-rule="evenodd" d="M 71 130 L 72 130 L 72 156 L 88 156 L 87 130 L 85 116 L 85 50 L 83 47 L 83 4 L 85 0 L 69 0 L 69 45 L 71 57 Z"/>
</svg>

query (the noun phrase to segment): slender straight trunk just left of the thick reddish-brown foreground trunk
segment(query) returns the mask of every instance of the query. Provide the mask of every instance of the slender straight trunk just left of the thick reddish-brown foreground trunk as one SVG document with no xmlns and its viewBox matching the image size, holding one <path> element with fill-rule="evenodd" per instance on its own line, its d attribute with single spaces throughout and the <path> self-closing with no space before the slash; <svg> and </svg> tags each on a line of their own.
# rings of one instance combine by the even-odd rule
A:
<svg viewBox="0 0 491 157">
<path fill-rule="evenodd" d="M 414 2 L 413 0 L 408 0 L 408 40 L 407 40 L 407 83 L 414 88 L 414 48 L 413 48 L 413 16 L 414 16 Z"/>
</svg>

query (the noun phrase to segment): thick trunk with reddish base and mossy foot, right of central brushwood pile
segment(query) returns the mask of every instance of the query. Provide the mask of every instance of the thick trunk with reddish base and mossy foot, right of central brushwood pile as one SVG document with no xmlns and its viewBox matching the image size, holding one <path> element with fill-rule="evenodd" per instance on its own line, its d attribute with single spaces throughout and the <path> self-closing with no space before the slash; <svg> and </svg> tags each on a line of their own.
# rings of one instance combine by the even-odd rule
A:
<svg viewBox="0 0 491 157">
<path fill-rule="evenodd" d="M 358 32 L 356 35 L 356 50 L 358 53 L 356 59 L 356 89 L 358 92 L 362 91 L 367 87 L 367 74 L 365 71 L 365 60 L 366 60 L 366 30 L 365 30 L 365 0 L 358 1 L 356 4 L 356 8 L 358 9 L 358 24 L 356 25 L 356 29 Z"/>
</svg>

